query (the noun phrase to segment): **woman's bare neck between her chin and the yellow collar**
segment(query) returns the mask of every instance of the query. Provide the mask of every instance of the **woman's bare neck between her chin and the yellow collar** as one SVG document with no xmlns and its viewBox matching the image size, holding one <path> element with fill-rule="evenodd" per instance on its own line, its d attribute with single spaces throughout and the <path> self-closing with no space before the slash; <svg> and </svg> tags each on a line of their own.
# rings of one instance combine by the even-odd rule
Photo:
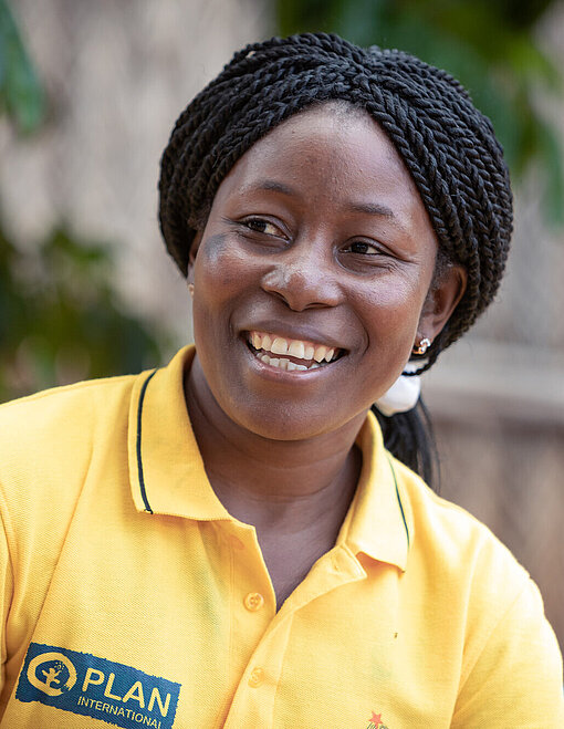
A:
<svg viewBox="0 0 564 729">
<path fill-rule="evenodd" d="M 185 379 L 194 433 L 211 486 L 226 509 L 258 528 L 299 531 L 316 519 L 341 524 L 361 470 L 354 447 L 366 414 L 306 440 L 271 440 L 229 418 L 197 356 Z"/>
</svg>

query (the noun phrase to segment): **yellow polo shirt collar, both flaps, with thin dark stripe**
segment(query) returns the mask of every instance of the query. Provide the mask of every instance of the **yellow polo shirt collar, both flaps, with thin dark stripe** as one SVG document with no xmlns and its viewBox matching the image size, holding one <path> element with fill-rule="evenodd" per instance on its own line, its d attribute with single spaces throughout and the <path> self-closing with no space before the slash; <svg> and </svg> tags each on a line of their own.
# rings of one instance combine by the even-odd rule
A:
<svg viewBox="0 0 564 729">
<path fill-rule="evenodd" d="M 167 367 L 135 382 L 128 425 L 132 494 L 139 511 L 233 521 L 209 483 L 186 408 L 184 374 L 194 355 L 194 345 L 184 347 Z M 337 544 L 405 570 L 412 519 L 403 470 L 384 448 L 372 413 L 356 444 L 363 454 L 361 479 Z"/>
</svg>

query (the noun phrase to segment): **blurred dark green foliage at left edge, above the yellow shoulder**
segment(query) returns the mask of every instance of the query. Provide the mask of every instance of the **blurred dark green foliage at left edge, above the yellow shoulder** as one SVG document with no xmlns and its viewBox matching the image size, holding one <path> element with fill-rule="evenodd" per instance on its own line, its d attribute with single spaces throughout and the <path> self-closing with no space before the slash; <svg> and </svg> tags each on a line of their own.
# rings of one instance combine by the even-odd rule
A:
<svg viewBox="0 0 564 729">
<path fill-rule="evenodd" d="M 33 253 L 0 230 L 0 402 L 159 362 L 168 343 L 124 313 L 112 271 L 109 248 L 63 227 Z"/>
</svg>

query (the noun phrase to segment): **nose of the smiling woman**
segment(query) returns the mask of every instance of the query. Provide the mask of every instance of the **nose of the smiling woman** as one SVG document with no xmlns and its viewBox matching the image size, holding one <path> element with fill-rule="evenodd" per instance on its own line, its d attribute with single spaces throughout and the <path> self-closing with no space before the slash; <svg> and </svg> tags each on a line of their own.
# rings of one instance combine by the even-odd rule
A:
<svg viewBox="0 0 564 729">
<path fill-rule="evenodd" d="M 262 289 L 280 296 L 293 311 L 336 306 L 341 285 L 335 261 L 327 260 L 326 248 L 309 241 L 294 242 L 276 256 L 262 277 Z"/>
</svg>

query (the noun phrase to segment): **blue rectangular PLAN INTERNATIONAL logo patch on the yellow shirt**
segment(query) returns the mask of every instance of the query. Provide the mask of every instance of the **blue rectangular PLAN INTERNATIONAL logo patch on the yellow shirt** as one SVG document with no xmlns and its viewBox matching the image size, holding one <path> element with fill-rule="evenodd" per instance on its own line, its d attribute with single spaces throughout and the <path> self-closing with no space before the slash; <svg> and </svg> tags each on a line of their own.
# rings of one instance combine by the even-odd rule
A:
<svg viewBox="0 0 564 729">
<path fill-rule="evenodd" d="M 15 698 L 125 729 L 171 729 L 180 684 L 88 653 L 30 643 Z"/>
</svg>

